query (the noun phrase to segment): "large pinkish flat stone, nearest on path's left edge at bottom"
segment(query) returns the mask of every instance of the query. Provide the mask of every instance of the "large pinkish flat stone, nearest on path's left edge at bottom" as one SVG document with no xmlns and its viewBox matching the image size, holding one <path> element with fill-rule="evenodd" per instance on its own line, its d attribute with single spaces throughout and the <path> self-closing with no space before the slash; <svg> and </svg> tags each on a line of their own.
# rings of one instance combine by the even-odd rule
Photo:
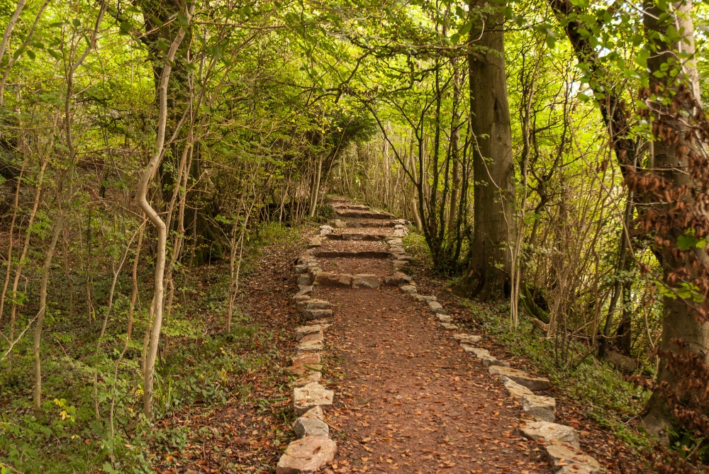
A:
<svg viewBox="0 0 709 474">
<path fill-rule="evenodd" d="M 306 436 L 288 445 L 276 474 L 313 474 L 333 461 L 337 444 L 327 436 Z"/>
</svg>

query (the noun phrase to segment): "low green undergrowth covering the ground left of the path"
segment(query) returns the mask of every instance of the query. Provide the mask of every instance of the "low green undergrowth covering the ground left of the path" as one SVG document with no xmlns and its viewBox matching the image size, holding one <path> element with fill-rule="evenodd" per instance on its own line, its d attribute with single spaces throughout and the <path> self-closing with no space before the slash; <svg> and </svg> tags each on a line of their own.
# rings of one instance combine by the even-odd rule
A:
<svg viewBox="0 0 709 474">
<path fill-rule="evenodd" d="M 279 225 L 250 232 L 242 276 L 254 269 L 265 246 L 297 235 Z M 150 266 L 145 265 L 145 280 L 151 278 Z M 243 308 L 237 308 L 233 329 L 224 334 L 228 278 L 225 264 L 180 273 L 156 367 L 155 422 L 142 414 L 145 304 L 136 311 L 132 340 L 120 357 L 132 287 L 128 276 L 119 280 L 108 320 L 112 329 L 106 334 L 115 335 L 100 342 L 96 337 L 103 317 L 86 320 L 74 314 L 69 319 L 66 307 L 54 305 L 48 317 L 52 337 L 42 346 L 41 412 L 32 407 L 31 338 L 16 346 L 12 370 L 0 372 L 0 467 L 21 473 L 150 473 L 156 453 L 180 451 L 188 439 L 184 429 L 170 427 L 167 420 L 196 405 L 209 410 L 245 400 L 252 387 L 242 382 L 243 376 L 279 357 L 272 344 L 277 334 L 259 327 Z M 140 295 L 143 302 L 150 298 Z"/>
</svg>

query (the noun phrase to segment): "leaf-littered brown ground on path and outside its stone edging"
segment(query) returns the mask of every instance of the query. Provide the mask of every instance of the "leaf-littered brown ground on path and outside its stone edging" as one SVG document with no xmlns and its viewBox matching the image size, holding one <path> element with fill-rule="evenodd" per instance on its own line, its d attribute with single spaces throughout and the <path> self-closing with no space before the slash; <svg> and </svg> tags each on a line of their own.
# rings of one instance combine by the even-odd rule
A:
<svg viewBox="0 0 709 474">
<path fill-rule="evenodd" d="M 372 233 L 372 229 L 335 232 Z M 382 234 L 393 231 L 374 229 Z M 274 472 L 287 442 L 295 438 L 292 389 L 283 371 L 296 344 L 289 334 L 303 322 L 291 301 L 298 290 L 293 264 L 307 239 L 317 233 L 317 227 L 310 227 L 299 242 L 275 242 L 252 262 L 240 304 L 259 331 L 271 334 L 262 344 L 272 344 L 278 355 L 240 380 L 250 389 L 244 397 L 207 412 L 190 409 L 187 416 L 165 419 L 164 427 L 182 427 L 189 439 L 184 449 L 174 452 L 158 448 L 155 470 Z M 381 243 L 328 240 L 323 249 L 381 250 Z M 320 257 L 319 264 L 325 271 L 340 273 L 391 273 L 381 259 Z M 482 305 L 452 295 L 450 282 L 433 276 L 425 259 L 413 264 L 411 273 L 417 275 L 419 293 L 436 295 L 460 329 L 481 334 L 481 322 L 471 307 L 479 310 Z M 542 446 L 520 434 L 520 405 L 480 361 L 462 351 L 428 305 L 387 286 L 316 286 L 311 296 L 333 305 L 320 384 L 335 392 L 327 422 L 330 437 L 337 442 L 337 457 L 325 473 L 553 472 Z M 515 368 L 535 372 L 528 359 L 489 335 L 480 345 Z M 541 395 L 557 399 L 557 423 L 577 429 L 581 448 L 608 473 L 634 471 L 637 453 L 595 421 L 583 400 L 567 397 L 554 385 Z"/>
</svg>

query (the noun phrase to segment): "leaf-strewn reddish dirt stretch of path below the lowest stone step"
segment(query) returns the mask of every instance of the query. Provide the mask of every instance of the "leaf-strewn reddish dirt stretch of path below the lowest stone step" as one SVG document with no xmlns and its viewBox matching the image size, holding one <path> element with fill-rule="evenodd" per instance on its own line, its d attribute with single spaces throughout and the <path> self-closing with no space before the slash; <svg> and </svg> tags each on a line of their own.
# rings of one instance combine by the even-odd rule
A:
<svg viewBox="0 0 709 474">
<path fill-rule="evenodd" d="M 398 288 L 318 290 L 337 301 L 328 331 L 342 379 L 330 424 L 338 461 L 404 473 L 551 472 L 516 427 L 520 410 L 479 362 Z M 339 360 L 337 360 L 339 359 Z M 532 446 L 534 448 L 535 446 Z M 338 466 L 339 468 L 340 466 Z"/>
</svg>

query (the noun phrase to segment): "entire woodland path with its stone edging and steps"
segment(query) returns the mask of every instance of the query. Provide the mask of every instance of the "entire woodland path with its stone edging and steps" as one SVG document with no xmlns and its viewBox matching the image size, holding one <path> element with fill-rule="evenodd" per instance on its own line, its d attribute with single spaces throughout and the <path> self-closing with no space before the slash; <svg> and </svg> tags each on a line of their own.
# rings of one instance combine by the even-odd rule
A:
<svg viewBox="0 0 709 474">
<path fill-rule="evenodd" d="M 347 201 L 295 262 L 294 441 L 277 474 L 603 470 L 545 378 L 475 346 L 406 275 L 408 222 Z M 333 441 L 334 440 L 334 441 Z M 335 442 L 336 441 L 336 442 Z"/>
</svg>

